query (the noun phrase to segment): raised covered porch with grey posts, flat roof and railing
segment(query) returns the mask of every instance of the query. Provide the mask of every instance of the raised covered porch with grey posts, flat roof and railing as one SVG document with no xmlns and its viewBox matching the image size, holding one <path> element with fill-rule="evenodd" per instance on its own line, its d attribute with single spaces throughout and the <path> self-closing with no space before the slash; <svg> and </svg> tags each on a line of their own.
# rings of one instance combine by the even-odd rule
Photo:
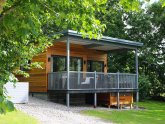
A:
<svg viewBox="0 0 165 124">
<path fill-rule="evenodd" d="M 94 94 L 95 107 L 97 106 L 97 95 L 99 95 L 99 93 L 115 93 L 117 96 L 116 101 L 118 108 L 120 105 L 120 93 L 123 92 L 136 93 L 136 102 L 138 102 L 137 48 L 142 46 L 141 43 L 104 36 L 100 41 L 97 41 L 96 39 L 90 40 L 88 37 L 83 39 L 82 34 L 71 30 L 63 32 L 62 34 L 65 37 L 58 40 L 57 44 L 59 42 L 65 44 L 62 46 L 64 47 L 63 52 L 57 51 L 55 53 L 55 47 L 48 49 L 48 60 L 50 65 L 50 71 L 48 71 L 47 74 L 48 91 L 65 93 L 66 105 L 68 107 L 70 106 L 70 94 L 75 93 Z M 73 47 L 73 45 L 75 46 Z M 59 49 L 59 47 L 56 47 L 56 50 L 57 49 Z M 107 52 L 122 50 L 135 51 L 135 73 L 107 73 Z M 98 55 L 98 53 L 101 53 L 102 55 Z M 89 54 L 94 56 L 91 57 Z M 99 71 L 89 71 L 88 62 L 90 63 L 91 60 L 94 60 L 95 62 L 98 61 L 97 58 L 94 58 L 97 55 L 102 59 L 102 64 L 100 64 L 101 66 L 99 67 L 100 69 Z M 59 56 L 60 59 L 58 58 Z M 71 67 L 73 60 L 77 61 L 78 66 Z M 57 68 L 59 65 L 60 69 Z"/>
</svg>

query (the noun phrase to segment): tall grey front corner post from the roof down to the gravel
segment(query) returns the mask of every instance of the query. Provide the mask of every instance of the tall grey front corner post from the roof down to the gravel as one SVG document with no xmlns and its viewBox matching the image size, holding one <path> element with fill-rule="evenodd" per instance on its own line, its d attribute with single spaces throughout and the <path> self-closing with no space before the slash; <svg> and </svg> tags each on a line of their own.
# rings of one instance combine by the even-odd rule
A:
<svg viewBox="0 0 165 124">
<path fill-rule="evenodd" d="M 67 37 L 67 94 L 66 94 L 66 105 L 67 107 L 70 106 L 70 94 L 69 94 L 69 77 L 70 77 L 70 41 L 69 41 L 69 37 Z"/>
</svg>

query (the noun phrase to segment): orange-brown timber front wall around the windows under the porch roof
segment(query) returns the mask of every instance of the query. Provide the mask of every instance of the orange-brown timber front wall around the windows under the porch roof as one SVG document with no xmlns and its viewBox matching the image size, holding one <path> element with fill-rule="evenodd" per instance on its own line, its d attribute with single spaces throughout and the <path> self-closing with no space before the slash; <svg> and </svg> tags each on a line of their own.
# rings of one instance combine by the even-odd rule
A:
<svg viewBox="0 0 165 124">
<path fill-rule="evenodd" d="M 52 55 L 66 56 L 66 43 L 56 42 L 49 47 L 47 49 L 47 59 Z M 107 54 L 105 52 L 87 49 L 82 45 L 70 44 L 70 56 L 83 59 L 83 71 L 87 71 L 87 60 L 103 61 L 104 65 L 107 65 Z M 86 61 L 85 64 L 84 61 Z M 49 72 L 51 72 L 51 62 L 47 63 L 47 73 Z M 104 72 L 107 72 L 107 66 L 104 67 Z"/>
</svg>

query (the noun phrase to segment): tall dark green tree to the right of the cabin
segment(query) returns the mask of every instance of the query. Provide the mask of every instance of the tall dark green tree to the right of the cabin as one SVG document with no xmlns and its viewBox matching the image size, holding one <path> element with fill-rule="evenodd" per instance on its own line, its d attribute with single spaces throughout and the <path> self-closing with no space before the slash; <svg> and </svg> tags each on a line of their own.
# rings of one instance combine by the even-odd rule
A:
<svg viewBox="0 0 165 124">
<path fill-rule="evenodd" d="M 140 73 L 145 73 L 151 83 L 151 97 L 165 93 L 165 8 L 157 2 L 147 6 L 141 13 L 127 19 L 131 28 L 127 30 L 132 40 L 144 43 L 140 50 Z"/>
</svg>

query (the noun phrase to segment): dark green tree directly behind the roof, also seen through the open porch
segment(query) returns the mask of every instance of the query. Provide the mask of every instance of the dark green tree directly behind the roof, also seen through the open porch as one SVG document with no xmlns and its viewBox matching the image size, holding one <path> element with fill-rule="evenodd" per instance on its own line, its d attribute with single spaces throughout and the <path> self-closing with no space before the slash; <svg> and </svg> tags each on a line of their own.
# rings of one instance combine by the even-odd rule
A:
<svg viewBox="0 0 165 124">
<path fill-rule="evenodd" d="M 107 1 L 106 12 L 98 16 L 100 21 L 107 27 L 103 34 L 105 36 L 129 40 L 130 38 L 125 33 L 127 25 L 124 23 L 124 17 L 126 13 L 128 12 L 119 4 L 119 0 Z M 134 53 L 132 51 L 109 52 L 108 71 L 134 73 L 134 60 Z"/>
</svg>

